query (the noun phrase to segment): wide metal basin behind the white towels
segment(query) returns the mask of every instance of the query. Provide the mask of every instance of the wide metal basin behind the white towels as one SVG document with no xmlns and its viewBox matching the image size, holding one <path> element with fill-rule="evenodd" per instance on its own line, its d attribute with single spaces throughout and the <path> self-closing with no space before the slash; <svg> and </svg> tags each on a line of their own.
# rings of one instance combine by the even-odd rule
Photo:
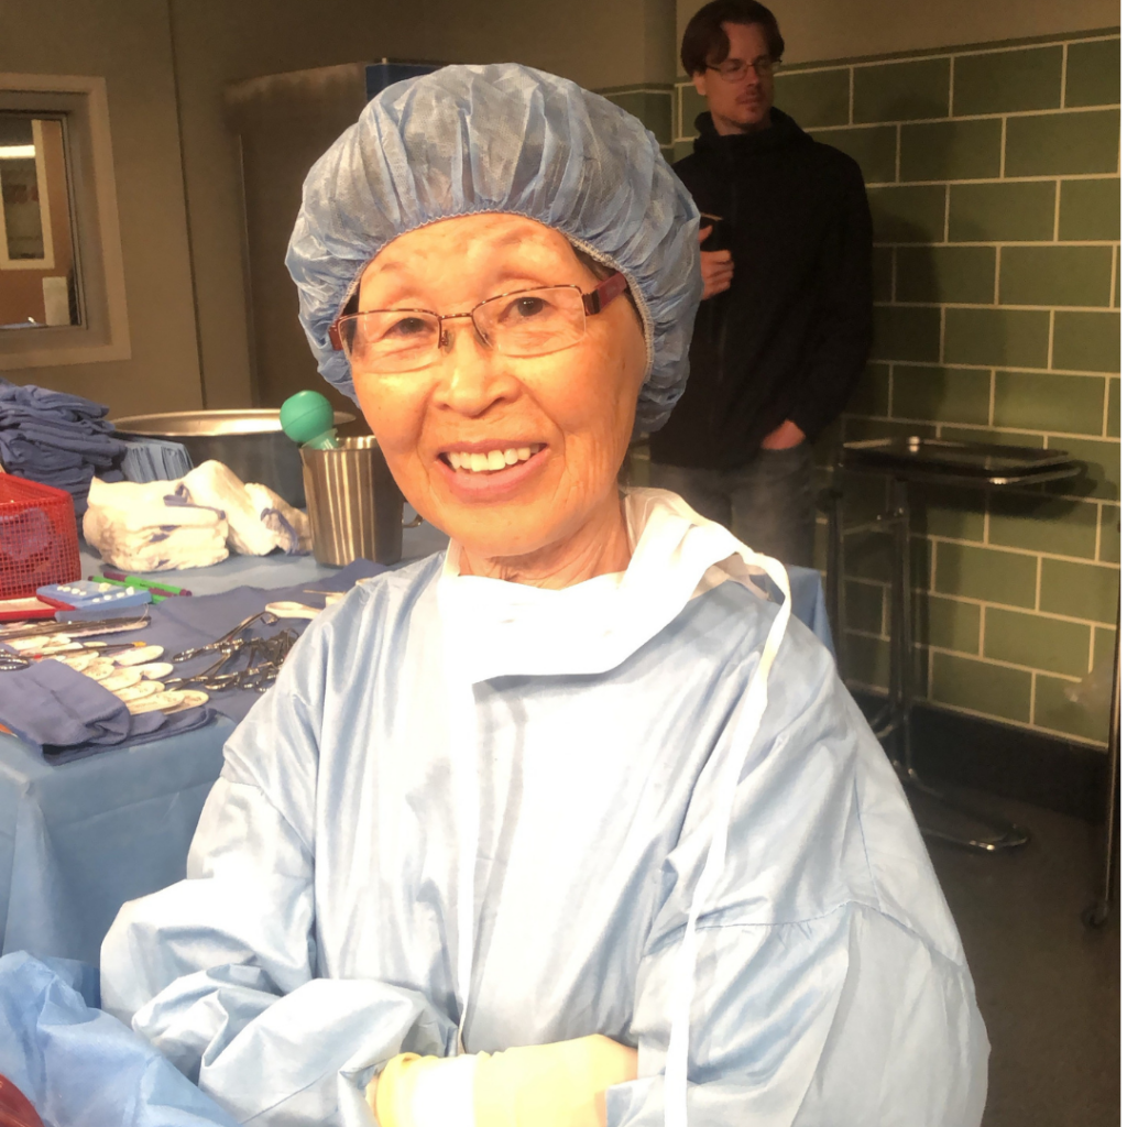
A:
<svg viewBox="0 0 1127 1127">
<path fill-rule="evenodd" d="M 334 423 L 353 423 L 354 415 L 336 411 Z M 276 410 L 167 411 L 113 419 L 121 434 L 168 438 L 180 443 L 194 464 L 215 459 L 243 481 L 269 486 L 298 508 L 305 507 L 301 453 L 282 432 Z"/>
</svg>

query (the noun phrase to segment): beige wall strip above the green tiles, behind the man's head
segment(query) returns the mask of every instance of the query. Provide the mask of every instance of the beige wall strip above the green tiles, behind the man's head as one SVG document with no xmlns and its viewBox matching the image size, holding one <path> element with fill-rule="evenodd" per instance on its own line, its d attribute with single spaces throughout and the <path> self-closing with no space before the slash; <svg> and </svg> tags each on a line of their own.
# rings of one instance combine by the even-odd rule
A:
<svg viewBox="0 0 1127 1127">
<path fill-rule="evenodd" d="M 1117 0 L 766 0 L 766 5 L 779 19 L 789 63 L 1119 26 Z M 678 48 L 685 24 L 701 7 L 701 0 L 677 0 Z"/>
</svg>

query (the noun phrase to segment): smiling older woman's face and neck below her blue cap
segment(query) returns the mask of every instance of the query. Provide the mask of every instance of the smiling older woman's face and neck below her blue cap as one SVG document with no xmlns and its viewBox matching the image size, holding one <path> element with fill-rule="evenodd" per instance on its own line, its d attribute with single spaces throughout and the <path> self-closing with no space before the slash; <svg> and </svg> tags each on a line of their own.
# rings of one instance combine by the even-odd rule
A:
<svg viewBox="0 0 1127 1127">
<path fill-rule="evenodd" d="M 586 313 L 598 286 L 559 231 L 516 215 L 411 231 L 364 270 L 369 312 L 345 318 L 356 396 L 467 574 L 566 587 L 625 570 L 616 476 L 646 339 L 629 301 Z"/>
</svg>

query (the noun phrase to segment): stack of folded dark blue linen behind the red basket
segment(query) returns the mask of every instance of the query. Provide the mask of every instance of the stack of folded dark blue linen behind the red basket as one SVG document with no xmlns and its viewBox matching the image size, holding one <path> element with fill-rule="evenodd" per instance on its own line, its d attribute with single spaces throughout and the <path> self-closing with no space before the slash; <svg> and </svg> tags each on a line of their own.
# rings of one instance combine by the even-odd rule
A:
<svg viewBox="0 0 1127 1127">
<path fill-rule="evenodd" d="M 125 443 L 109 408 L 81 396 L 0 380 L 0 463 L 8 473 L 65 489 L 86 512 L 90 479 L 121 481 Z"/>
</svg>

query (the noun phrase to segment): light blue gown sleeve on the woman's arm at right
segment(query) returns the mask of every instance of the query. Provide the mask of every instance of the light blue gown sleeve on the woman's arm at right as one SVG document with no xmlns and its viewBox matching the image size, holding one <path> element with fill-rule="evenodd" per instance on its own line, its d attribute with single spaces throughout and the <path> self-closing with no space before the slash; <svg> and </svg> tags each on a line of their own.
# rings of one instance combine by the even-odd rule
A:
<svg viewBox="0 0 1127 1127">
<path fill-rule="evenodd" d="M 988 1045 L 953 921 L 884 752 L 828 655 L 797 633 L 740 752 L 725 872 L 699 922 L 689 1122 L 977 1127 Z M 664 1124 L 673 967 L 712 765 L 636 983 L 639 1080 L 609 1091 L 607 1127 Z"/>
</svg>

